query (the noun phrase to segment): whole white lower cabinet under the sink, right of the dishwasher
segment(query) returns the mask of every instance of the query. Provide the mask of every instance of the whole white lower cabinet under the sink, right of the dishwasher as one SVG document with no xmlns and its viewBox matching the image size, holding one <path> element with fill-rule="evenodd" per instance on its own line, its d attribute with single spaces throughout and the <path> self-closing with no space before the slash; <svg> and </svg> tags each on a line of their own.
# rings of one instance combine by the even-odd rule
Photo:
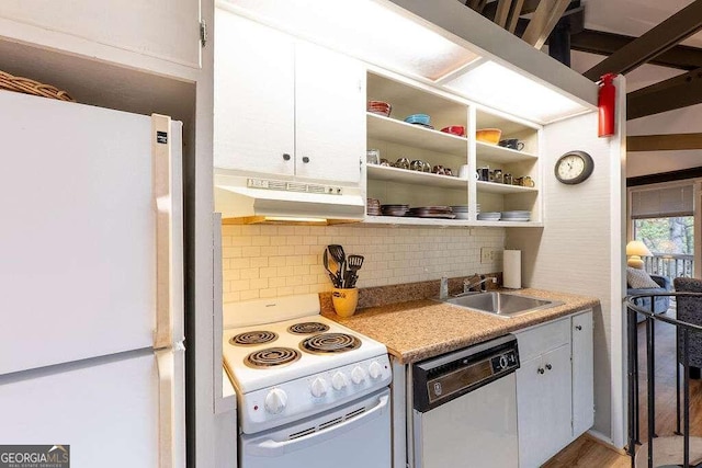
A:
<svg viewBox="0 0 702 468">
<path fill-rule="evenodd" d="M 514 334 L 519 466 L 535 468 L 592 426 L 592 311 Z"/>
</svg>

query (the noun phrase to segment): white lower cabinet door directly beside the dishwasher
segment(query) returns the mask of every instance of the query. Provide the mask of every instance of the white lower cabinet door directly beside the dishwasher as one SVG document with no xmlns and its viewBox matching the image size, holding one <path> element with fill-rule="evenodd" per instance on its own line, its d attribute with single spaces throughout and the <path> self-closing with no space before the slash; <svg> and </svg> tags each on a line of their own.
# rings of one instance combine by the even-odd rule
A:
<svg viewBox="0 0 702 468">
<path fill-rule="evenodd" d="M 521 364 L 517 372 L 519 466 L 535 468 L 570 442 L 570 347 Z"/>
</svg>

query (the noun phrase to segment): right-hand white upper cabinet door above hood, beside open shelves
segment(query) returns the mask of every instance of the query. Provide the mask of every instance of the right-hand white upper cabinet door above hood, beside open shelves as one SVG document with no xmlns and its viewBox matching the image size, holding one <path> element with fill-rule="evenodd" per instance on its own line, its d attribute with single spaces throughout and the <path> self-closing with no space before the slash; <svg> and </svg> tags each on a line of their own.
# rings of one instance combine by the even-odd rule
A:
<svg viewBox="0 0 702 468">
<path fill-rule="evenodd" d="M 295 56 L 296 174 L 358 183 L 365 157 L 365 70 L 308 43 Z"/>
</svg>

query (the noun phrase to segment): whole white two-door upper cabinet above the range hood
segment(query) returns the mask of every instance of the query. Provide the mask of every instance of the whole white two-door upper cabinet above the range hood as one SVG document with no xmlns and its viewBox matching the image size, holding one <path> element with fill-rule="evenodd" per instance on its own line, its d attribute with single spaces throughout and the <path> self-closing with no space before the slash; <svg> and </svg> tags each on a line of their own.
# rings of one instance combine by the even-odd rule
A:
<svg viewBox="0 0 702 468">
<path fill-rule="evenodd" d="M 215 167 L 358 184 L 364 67 L 222 10 L 216 31 Z"/>
</svg>

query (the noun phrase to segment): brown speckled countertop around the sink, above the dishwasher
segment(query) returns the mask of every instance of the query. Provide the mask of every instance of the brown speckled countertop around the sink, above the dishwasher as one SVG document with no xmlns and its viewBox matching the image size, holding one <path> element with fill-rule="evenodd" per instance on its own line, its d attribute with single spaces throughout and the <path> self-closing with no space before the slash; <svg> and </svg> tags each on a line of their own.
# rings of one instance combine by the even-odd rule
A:
<svg viewBox="0 0 702 468">
<path fill-rule="evenodd" d="M 541 289 L 524 288 L 512 293 L 564 304 L 514 318 L 496 317 L 429 299 L 369 307 L 348 318 L 333 312 L 324 315 L 384 343 L 400 364 L 411 364 L 600 304 L 595 297 Z"/>
</svg>

